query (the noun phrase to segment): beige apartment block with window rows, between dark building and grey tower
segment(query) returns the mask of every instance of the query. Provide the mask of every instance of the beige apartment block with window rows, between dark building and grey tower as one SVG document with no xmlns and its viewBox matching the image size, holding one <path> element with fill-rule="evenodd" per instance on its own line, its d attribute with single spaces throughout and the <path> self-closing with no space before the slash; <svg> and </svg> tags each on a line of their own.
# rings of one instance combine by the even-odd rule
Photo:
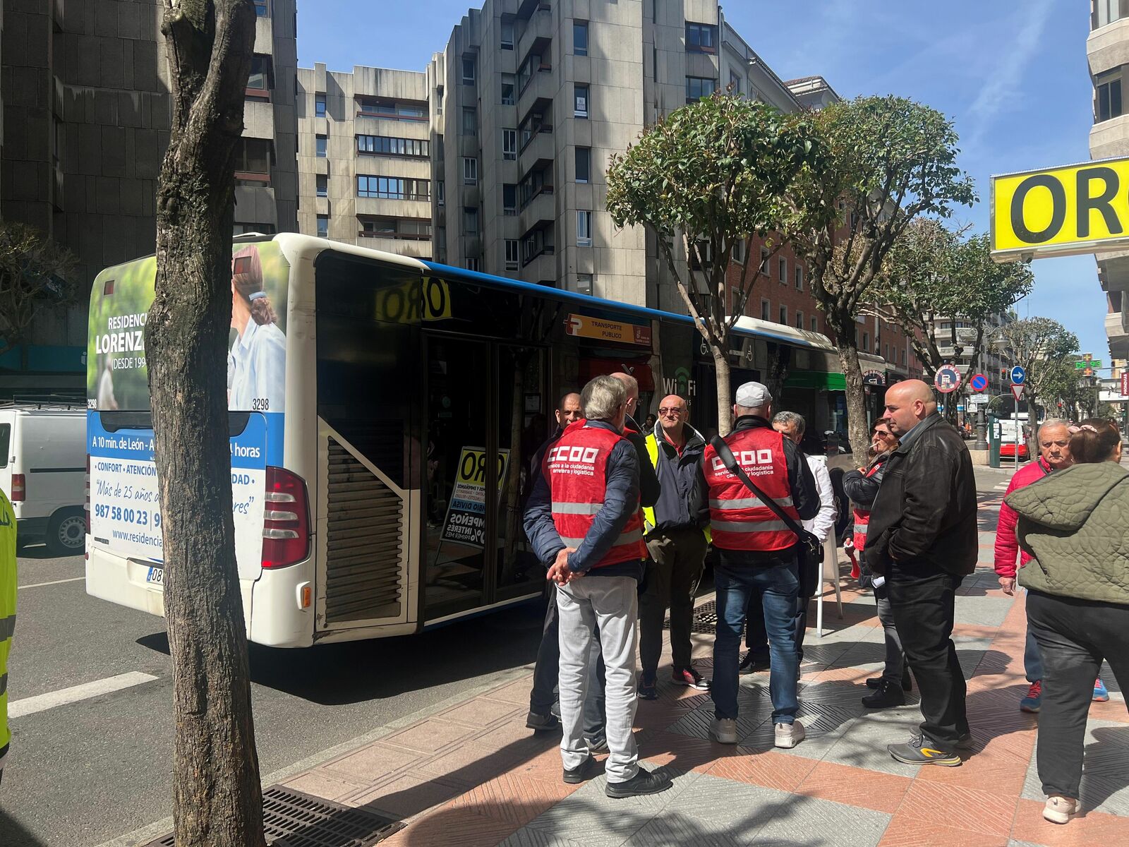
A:
<svg viewBox="0 0 1129 847">
<path fill-rule="evenodd" d="M 298 69 L 298 229 L 431 259 L 427 75 Z"/>
</svg>

